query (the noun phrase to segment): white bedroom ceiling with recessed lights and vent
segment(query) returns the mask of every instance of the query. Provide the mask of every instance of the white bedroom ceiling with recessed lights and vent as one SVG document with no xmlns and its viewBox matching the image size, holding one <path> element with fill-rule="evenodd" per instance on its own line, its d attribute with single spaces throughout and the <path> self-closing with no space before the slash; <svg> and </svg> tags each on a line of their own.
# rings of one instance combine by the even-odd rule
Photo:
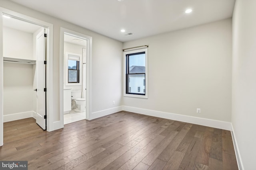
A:
<svg viewBox="0 0 256 170">
<path fill-rule="evenodd" d="M 235 0 L 11 0 L 125 42 L 232 17 Z M 185 10 L 191 8 L 190 14 Z M 120 32 L 125 29 L 126 32 Z M 134 33 L 125 36 L 124 34 Z"/>
</svg>

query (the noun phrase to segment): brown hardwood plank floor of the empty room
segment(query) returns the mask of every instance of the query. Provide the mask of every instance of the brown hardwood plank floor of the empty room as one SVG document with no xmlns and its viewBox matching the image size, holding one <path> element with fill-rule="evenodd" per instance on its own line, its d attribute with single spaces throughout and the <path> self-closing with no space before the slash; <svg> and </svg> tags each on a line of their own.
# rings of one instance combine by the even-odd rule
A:
<svg viewBox="0 0 256 170">
<path fill-rule="evenodd" d="M 43 131 L 4 123 L 0 160 L 44 170 L 238 170 L 230 131 L 120 111 Z"/>
</svg>

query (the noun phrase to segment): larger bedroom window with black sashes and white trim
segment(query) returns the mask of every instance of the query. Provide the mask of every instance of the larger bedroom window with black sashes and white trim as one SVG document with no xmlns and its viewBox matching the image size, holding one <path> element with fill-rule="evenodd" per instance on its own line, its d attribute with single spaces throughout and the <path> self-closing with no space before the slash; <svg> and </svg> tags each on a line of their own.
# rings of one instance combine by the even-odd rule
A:
<svg viewBox="0 0 256 170">
<path fill-rule="evenodd" d="M 148 98 L 147 52 L 147 49 L 124 52 L 124 96 Z"/>
</svg>

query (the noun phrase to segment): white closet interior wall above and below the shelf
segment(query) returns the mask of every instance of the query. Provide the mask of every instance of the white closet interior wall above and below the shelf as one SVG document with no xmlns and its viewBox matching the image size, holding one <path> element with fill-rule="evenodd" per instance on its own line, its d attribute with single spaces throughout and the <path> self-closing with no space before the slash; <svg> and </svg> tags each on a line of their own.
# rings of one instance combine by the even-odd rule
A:
<svg viewBox="0 0 256 170">
<path fill-rule="evenodd" d="M 18 27 L 18 25 L 17 25 Z M 4 27 L 4 57 L 19 59 L 33 59 L 33 34 Z M 33 91 L 34 74 L 33 65 L 4 63 L 4 93 L 3 113 L 4 121 L 32 116 L 36 111 Z"/>
</svg>

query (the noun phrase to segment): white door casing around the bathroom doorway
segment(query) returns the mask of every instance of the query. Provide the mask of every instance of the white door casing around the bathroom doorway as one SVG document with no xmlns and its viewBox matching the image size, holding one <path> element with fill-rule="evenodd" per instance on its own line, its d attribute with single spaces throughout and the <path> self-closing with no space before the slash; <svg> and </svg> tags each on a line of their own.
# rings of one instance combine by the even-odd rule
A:
<svg viewBox="0 0 256 170">
<path fill-rule="evenodd" d="M 72 35 L 87 41 L 86 61 L 86 119 L 92 114 L 92 37 L 60 27 L 60 127 L 64 127 L 63 83 L 64 83 L 64 34 Z"/>
</svg>

